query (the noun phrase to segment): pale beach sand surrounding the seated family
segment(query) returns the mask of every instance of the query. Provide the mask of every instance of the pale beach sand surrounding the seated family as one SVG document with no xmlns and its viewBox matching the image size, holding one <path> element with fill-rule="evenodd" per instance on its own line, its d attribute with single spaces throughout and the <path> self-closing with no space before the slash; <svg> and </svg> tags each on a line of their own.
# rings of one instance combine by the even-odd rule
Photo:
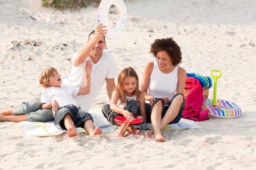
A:
<svg viewBox="0 0 256 170">
<path fill-rule="evenodd" d="M 163 130 L 164 142 L 113 133 L 68 138 L 29 137 L 14 122 L 0 122 L 0 170 L 252 170 L 256 166 L 256 1 L 126 0 L 128 22 L 116 40 L 106 39 L 118 71 L 131 66 L 141 82 L 155 39 L 173 37 L 189 73 L 221 70 L 218 99 L 242 115 L 197 122 L 202 128 Z M 109 14 L 115 21 L 115 9 Z M 98 8 L 58 11 L 40 0 L 0 0 L 0 109 L 28 102 L 42 91 L 38 77 L 53 66 L 67 77 L 72 56 L 97 25 Z M 213 88 L 209 89 L 213 98 Z M 102 88 L 92 109 L 108 103 Z M 100 114 L 100 113 L 99 113 Z"/>
</svg>

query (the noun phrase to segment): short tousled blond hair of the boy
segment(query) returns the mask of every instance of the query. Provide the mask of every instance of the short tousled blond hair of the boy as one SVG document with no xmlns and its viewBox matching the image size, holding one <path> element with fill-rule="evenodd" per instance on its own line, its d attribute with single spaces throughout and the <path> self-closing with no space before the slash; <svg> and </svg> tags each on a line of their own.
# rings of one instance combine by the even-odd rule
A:
<svg viewBox="0 0 256 170">
<path fill-rule="evenodd" d="M 49 87 L 49 79 L 56 72 L 58 71 L 53 67 L 47 67 L 42 71 L 39 76 L 39 83 L 43 88 Z"/>
</svg>

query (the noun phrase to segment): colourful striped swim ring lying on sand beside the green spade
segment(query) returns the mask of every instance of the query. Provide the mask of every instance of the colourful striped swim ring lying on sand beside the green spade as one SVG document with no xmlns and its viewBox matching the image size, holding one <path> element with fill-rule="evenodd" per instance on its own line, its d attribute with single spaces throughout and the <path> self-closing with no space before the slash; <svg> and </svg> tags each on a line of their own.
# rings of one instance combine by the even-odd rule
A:
<svg viewBox="0 0 256 170">
<path fill-rule="evenodd" d="M 209 116 L 220 118 L 235 118 L 242 113 L 239 106 L 222 99 L 216 99 L 216 107 L 213 107 L 213 99 L 205 99 L 201 110 L 209 110 Z"/>
</svg>

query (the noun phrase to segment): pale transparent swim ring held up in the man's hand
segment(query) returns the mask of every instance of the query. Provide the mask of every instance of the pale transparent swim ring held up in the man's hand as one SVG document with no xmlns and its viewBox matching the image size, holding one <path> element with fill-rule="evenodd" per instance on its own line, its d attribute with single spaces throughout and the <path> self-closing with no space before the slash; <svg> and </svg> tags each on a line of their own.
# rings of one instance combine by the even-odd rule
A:
<svg viewBox="0 0 256 170">
<path fill-rule="evenodd" d="M 117 9 L 117 24 L 114 29 L 112 29 L 108 24 L 108 10 L 111 5 L 115 5 Z M 103 24 L 106 26 L 108 33 L 105 35 L 106 38 L 114 40 L 121 33 L 124 32 L 127 22 L 127 10 L 123 0 L 101 0 L 98 10 L 98 24 Z"/>
</svg>

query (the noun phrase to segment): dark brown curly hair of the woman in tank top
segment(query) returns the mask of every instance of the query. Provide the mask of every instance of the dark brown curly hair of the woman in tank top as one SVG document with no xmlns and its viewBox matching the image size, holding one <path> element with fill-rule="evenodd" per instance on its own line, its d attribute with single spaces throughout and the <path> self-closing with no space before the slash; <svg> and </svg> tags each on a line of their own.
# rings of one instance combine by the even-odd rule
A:
<svg viewBox="0 0 256 170">
<path fill-rule="evenodd" d="M 157 52 L 166 51 L 166 53 L 171 57 L 173 66 L 177 66 L 182 63 L 182 53 L 180 46 L 173 40 L 173 38 L 163 38 L 156 39 L 153 44 L 151 44 L 150 52 L 153 56 L 157 57 Z"/>
</svg>

